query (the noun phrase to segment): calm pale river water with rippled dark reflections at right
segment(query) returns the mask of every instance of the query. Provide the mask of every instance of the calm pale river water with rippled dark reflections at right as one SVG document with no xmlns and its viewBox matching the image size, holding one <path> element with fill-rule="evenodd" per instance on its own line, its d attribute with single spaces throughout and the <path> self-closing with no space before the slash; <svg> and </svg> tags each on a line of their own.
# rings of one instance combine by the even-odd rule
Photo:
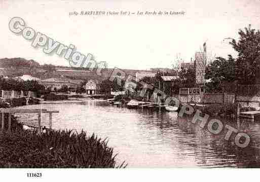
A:
<svg viewBox="0 0 260 182">
<path fill-rule="evenodd" d="M 54 129 L 86 130 L 109 139 L 128 167 L 260 167 L 260 122 L 226 121 L 251 136 L 250 146 L 241 149 L 224 140 L 226 131 L 213 135 L 177 113 L 129 110 L 103 100 L 78 103 L 26 105 L 19 108 L 59 110 L 53 115 Z M 35 114 L 19 114 L 19 120 L 36 125 Z M 43 116 L 48 126 L 49 116 Z M 231 138 L 234 138 L 232 135 Z"/>
</svg>

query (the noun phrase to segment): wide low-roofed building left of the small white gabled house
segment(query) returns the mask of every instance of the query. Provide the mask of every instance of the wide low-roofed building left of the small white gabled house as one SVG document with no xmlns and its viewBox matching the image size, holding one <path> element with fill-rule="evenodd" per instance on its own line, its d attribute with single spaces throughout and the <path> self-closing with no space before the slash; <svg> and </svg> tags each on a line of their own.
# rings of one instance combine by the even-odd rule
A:
<svg viewBox="0 0 260 182">
<path fill-rule="evenodd" d="M 39 83 L 44 85 L 45 88 L 51 88 L 51 90 L 61 89 L 63 85 L 66 85 L 68 89 L 76 89 L 78 86 L 81 86 L 83 80 L 72 80 L 66 77 L 61 78 L 49 78 L 45 80 L 40 80 Z"/>
</svg>

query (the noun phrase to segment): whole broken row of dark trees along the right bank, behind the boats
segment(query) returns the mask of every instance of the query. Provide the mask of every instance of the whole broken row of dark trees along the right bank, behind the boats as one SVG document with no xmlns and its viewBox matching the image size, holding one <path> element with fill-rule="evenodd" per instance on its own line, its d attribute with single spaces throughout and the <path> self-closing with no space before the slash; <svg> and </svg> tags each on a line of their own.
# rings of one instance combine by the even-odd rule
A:
<svg viewBox="0 0 260 182">
<path fill-rule="evenodd" d="M 239 29 L 239 38 L 236 41 L 232 39 L 229 43 L 235 51 L 237 58 L 227 55 L 227 58 L 216 57 L 209 65 L 206 66 L 204 88 L 208 92 L 222 92 L 222 86 L 225 84 L 253 85 L 259 84 L 260 81 L 260 31 L 251 28 L 251 25 L 244 29 Z M 144 77 L 140 81 L 153 85 L 156 88 L 163 88 L 162 72 L 158 72 L 155 77 Z M 164 76 L 172 75 L 167 72 Z M 176 71 L 178 76 L 174 80 L 174 85 L 164 90 L 166 93 L 178 93 L 179 88 L 196 87 L 195 69 L 182 68 Z M 139 83 L 135 90 L 141 90 L 142 85 Z M 124 85 L 124 84 L 123 84 Z M 113 88 L 123 90 L 123 86 L 109 81 L 103 82 L 103 89 Z"/>
</svg>

